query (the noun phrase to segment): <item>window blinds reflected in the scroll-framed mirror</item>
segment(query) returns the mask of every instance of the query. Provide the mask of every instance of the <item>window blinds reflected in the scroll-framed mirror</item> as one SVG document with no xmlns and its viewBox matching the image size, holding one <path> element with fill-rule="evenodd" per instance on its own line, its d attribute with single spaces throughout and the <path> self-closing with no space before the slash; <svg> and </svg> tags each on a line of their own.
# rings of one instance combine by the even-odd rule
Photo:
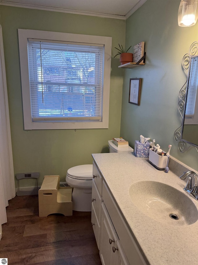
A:
<svg viewBox="0 0 198 265">
<path fill-rule="evenodd" d="M 189 71 L 185 118 L 193 118 L 195 114 L 197 87 L 198 87 L 198 57 L 192 57 L 190 71 Z"/>
</svg>

